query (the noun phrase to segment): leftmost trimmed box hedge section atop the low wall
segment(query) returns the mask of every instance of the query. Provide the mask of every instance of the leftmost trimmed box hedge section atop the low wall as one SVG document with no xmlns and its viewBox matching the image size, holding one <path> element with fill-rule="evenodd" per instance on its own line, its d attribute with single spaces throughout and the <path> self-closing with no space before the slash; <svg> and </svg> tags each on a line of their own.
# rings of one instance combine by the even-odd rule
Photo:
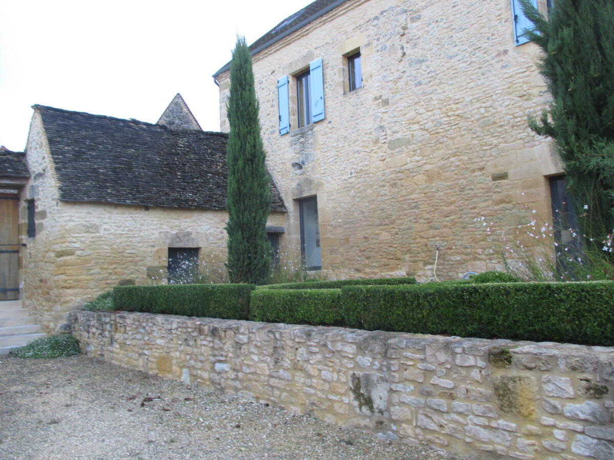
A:
<svg viewBox="0 0 614 460">
<path fill-rule="evenodd" d="M 115 310 L 247 320 L 254 285 L 117 286 Z"/>
</svg>

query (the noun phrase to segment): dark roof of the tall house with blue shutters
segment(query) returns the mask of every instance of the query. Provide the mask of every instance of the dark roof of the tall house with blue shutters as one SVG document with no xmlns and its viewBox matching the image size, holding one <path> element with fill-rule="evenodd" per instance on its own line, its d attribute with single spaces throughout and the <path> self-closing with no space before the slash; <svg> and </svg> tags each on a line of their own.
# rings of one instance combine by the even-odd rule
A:
<svg viewBox="0 0 614 460">
<path fill-rule="evenodd" d="M 252 56 L 270 47 L 282 38 L 289 36 L 298 29 L 305 27 L 309 23 L 315 21 L 317 18 L 324 16 L 326 13 L 335 9 L 346 1 L 348 0 L 316 0 L 311 2 L 308 4 L 308 6 L 297 11 L 293 15 L 290 15 L 273 29 L 257 39 L 254 43 L 249 45 L 249 50 Z M 228 69 L 230 69 L 230 62 L 225 64 L 225 66 L 213 74 L 213 77 L 215 78 L 217 75 L 223 74 L 223 72 L 228 71 Z"/>
</svg>

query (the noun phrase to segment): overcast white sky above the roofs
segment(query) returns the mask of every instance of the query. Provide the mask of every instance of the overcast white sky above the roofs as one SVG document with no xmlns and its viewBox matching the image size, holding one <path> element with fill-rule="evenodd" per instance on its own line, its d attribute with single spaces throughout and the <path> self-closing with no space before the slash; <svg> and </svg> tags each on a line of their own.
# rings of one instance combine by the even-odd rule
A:
<svg viewBox="0 0 614 460">
<path fill-rule="evenodd" d="M 211 77 L 311 0 L 0 0 L 0 145 L 21 151 L 33 104 L 155 123 L 181 93 L 219 130 Z"/>
</svg>

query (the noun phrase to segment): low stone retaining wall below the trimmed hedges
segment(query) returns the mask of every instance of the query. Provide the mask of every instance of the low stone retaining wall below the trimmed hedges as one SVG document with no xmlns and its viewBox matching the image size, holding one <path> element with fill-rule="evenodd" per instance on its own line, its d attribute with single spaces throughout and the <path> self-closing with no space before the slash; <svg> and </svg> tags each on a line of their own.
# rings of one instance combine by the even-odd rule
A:
<svg viewBox="0 0 614 460">
<path fill-rule="evenodd" d="M 88 356 L 472 458 L 614 459 L 614 348 L 74 312 Z"/>
</svg>

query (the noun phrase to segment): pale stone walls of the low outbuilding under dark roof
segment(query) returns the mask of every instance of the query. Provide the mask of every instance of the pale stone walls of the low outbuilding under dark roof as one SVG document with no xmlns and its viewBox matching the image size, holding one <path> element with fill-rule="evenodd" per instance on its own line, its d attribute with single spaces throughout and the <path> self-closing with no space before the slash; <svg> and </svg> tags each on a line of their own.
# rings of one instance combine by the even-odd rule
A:
<svg viewBox="0 0 614 460">
<path fill-rule="evenodd" d="M 199 248 L 201 273 L 223 280 L 225 210 L 178 209 L 63 201 L 40 115 L 28 137 L 31 179 L 20 207 L 23 304 L 45 332 L 66 313 L 117 285 L 166 282 L 168 248 Z M 27 236 L 27 200 L 36 205 L 36 236 Z M 270 224 L 281 226 L 282 213 Z"/>
</svg>

